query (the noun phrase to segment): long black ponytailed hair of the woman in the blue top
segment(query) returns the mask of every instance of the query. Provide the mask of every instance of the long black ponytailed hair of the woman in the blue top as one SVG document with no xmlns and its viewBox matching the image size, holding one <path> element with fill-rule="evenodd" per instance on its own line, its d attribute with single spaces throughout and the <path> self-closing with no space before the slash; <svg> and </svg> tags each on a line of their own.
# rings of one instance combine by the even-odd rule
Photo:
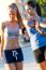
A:
<svg viewBox="0 0 46 70">
<path fill-rule="evenodd" d="M 39 3 L 34 3 L 33 0 L 28 1 L 27 3 L 28 3 L 28 5 L 30 5 L 30 6 L 32 6 L 33 9 L 35 9 L 35 11 L 36 11 L 36 13 L 37 13 L 39 16 L 42 16 L 41 6 L 40 6 Z"/>
</svg>

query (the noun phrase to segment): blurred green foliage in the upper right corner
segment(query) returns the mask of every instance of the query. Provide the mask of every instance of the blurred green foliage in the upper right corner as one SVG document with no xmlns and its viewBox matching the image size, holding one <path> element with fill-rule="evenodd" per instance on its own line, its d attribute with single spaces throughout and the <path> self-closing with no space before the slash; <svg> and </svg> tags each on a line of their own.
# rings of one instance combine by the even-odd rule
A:
<svg viewBox="0 0 46 70">
<path fill-rule="evenodd" d="M 46 17 L 46 0 L 34 0 L 34 2 L 40 4 L 42 16 Z"/>
</svg>

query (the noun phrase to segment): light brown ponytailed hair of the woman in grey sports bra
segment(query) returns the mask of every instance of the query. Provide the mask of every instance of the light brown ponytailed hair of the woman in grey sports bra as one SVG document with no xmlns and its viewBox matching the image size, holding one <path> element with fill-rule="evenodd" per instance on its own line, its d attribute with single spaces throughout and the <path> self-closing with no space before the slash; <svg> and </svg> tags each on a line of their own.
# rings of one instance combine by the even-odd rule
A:
<svg viewBox="0 0 46 70">
<path fill-rule="evenodd" d="M 20 26 L 20 24 L 22 24 L 22 19 L 21 19 L 21 16 L 20 16 L 20 13 L 19 13 L 19 11 L 18 11 L 18 8 L 17 8 L 16 3 L 10 4 L 9 8 L 10 8 L 10 9 L 13 9 L 14 11 L 17 12 L 17 22 L 18 22 L 18 24 L 19 24 L 19 26 Z"/>
</svg>

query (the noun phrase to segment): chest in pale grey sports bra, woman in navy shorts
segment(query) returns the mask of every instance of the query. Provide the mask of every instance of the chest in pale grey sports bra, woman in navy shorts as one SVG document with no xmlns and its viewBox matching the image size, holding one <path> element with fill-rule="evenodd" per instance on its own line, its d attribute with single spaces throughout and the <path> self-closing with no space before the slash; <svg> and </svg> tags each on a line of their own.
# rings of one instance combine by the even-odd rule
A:
<svg viewBox="0 0 46 70">
<path fill-rule="evenodd" d="M 14 27 L 6 26 L 4 29 L 4 36 L 7 37 L 17 37 L 19 34 L 19 26 L 16 25 Z"/>
</svg>

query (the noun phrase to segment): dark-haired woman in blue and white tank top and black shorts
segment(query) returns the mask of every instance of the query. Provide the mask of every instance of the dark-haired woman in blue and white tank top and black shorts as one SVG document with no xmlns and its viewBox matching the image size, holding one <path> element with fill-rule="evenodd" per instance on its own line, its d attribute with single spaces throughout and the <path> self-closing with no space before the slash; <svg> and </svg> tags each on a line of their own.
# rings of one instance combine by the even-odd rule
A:
<svg viewBox="0 0 46 70">
<path fill-rule="evenodd" d="M 40 26 L 40 23 L 42 23 L 43 26 L 45 25 L 43 23 L 43 18 L 36 14 L 37 13 L 36 10 L 37 10 L 36 5 L 34 4 L 33 1 L 27 2 L 27 13 L 30 15 L 28 26 L 30 27 L 31 47 L 34 53 L 35 60 L 37 65 L 40 65 L 41 70 L 46 70 L 46 59 L 45 59 L 46 31 L 44 28 L 42 28 L 42 25 Z M 37 19 L 40 22 L 37 22 Z"/>
</svg>

